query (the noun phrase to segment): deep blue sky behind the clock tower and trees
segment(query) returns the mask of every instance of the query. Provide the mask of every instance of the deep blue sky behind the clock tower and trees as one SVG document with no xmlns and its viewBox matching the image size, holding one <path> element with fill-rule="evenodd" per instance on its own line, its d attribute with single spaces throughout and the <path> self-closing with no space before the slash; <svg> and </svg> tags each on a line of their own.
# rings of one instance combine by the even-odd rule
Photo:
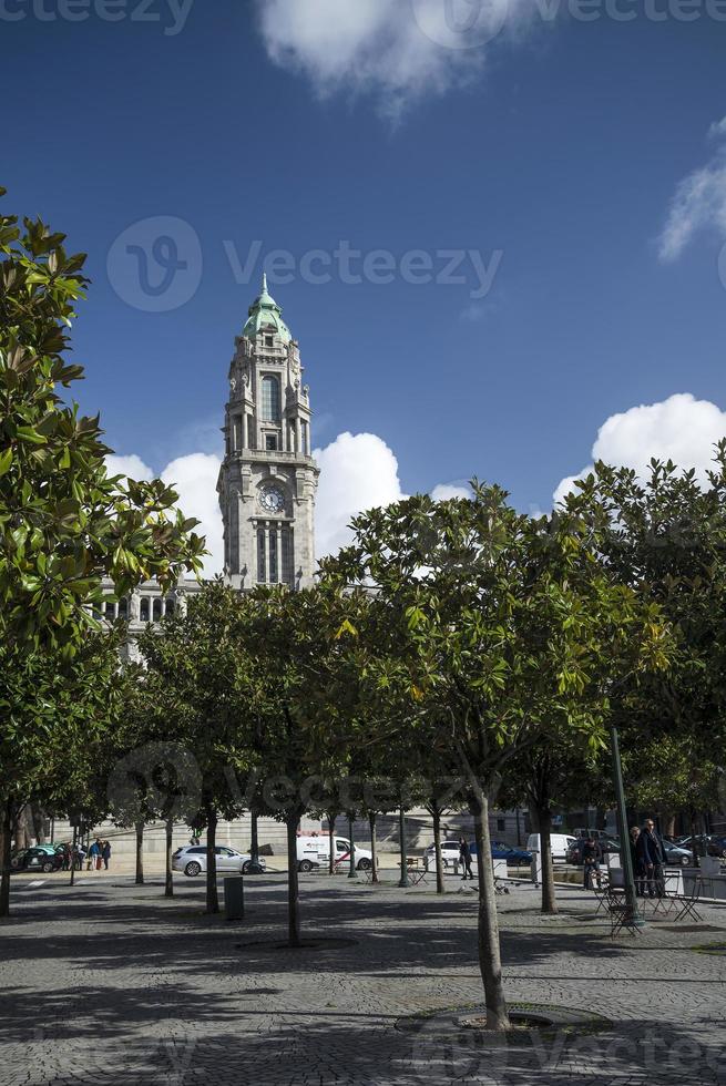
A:
<svg viewBox="0 0 726 1086">
<path fill-rule="evenodd" d="M 605 453 L 703 460 L 704 411 L 708 441 L 726 432 L 716 9 L 686 22 L 676 0 L 652 0 L 665 19 L 633 4 L 623 22 L 603 0 L 585 22 L 574 0 L 551 19 L 510 0 L 491 40 L 440 44 L 420 28 L 436 31 L 444 0 L 389 0 L 387 14 L 380 0 L 196 0 L 183 25 L 168 0 L 151 0 L 157 21 L 139 21 L 139 0 L 117 0 L 117 22 L 89 2 L 78 22 L 38 18 L 33 3 L 58 0 L 0 4 L 0 183 L 8 209 L 90 254 L 81 401 L 119 453 L 161 471 L 218 452 L 233 339 L 274 249 L 296 267 L 270 289 L 300 340 L 315 443 L 378 436 L 398 461 L 396 482 L 382 445 L 368 464 L 374 481 L 389 473 L 381 500 L 477 474 L 548 508 L 605 420 L 675 393 L 714 407 L 630 414 Z M 466 14 L 479 0 L 453 2 Z M 188 224 L 180 259 L 196 236 L 202 263 L 192 252 L 186 304 L 149 313 L 114 242 L 132 228 L 151 246 L 153 224 L 134 224 L 159 217 Z M 389 250 L 392 281 L 341 283 L 335 267 L 305 281 L 305 255 L 340 240 Z M 252 279 L 236 281 L 229 254 L 244 264 L 255 242 Z M 405 281 L 411 250 L 432 275 L 440 250 L 461 250 L 466 281 Z M 495 268 L 484 297 L 471 250 Z M 340 470 L 341 506 L 347 489 L 351 509 L 377 496 Z"/>
</svg>

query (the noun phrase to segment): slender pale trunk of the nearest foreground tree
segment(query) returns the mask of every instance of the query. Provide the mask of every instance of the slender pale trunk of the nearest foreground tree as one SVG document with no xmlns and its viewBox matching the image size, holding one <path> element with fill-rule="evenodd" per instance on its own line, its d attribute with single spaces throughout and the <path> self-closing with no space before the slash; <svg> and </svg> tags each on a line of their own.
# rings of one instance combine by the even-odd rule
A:
<svg viewBox="0 0 726 1086">
<path fill-rule="evenodd" d="M 510 1021 L 502 983 L 494 869 L 491 862 L 491 838 L 489 836 L 489 799 L 478 788 L 476 800 L 477 810 L 473 814 L 477 838 L 477 868 L 479 870 L 479 967 L 484 983 L 487 1028 L 501 1031 L 510 1028 Z"/>
</svg>

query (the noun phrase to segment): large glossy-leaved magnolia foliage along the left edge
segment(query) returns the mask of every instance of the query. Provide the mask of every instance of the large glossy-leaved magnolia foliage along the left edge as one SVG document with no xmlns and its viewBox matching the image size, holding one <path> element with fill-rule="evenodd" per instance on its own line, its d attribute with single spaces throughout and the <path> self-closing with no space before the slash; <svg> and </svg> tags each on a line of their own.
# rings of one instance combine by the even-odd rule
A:
<svg viewBox="0 0 726 1086">
<path fill-rule="evenodd" d="M 203 554 L 174 491 L 110 477 L 98 417 L 63 399 L 83 376 L 65 356 L 88 281 L 84 256 L 63 242 L 41 222 L 20 228 L 0 215 L 0 644 L 16 674 L 29 654 L 72 657 L 95 628 L 104 576 L 119 595 L 147 577 L 166 588 Z M 6 748 L 33 744 L 34 727 L 28 717 L 20 735 L 0 703 Z M 18 807 L 4 777 L 0 805 L 7 868 Z"/>
</svg>

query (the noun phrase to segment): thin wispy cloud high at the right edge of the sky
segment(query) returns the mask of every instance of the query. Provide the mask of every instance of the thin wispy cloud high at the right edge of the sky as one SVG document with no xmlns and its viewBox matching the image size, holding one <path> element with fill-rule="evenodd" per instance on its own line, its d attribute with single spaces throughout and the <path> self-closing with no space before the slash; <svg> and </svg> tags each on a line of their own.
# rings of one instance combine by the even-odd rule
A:
<svg viewBox="0 0 726 1086">
<path fill-rule="evenodd" d="M 710 139 L 716 151 L 701 170 L 678 183 L 668 217 L 658 239 L 662 260 L 675 260 L 692 238 L 703 229 L 726 237 L 726 117 L 712 124 Z"/>
</svg>

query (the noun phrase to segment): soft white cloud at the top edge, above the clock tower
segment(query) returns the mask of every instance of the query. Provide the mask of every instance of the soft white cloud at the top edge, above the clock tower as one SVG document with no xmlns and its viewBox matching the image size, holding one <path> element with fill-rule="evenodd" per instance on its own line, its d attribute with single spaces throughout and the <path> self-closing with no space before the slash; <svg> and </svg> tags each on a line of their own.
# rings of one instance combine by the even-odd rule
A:
<svg viewBox="0 0 726 1086">
<path fill-rule="evenodd" d="M 319 94 L 372 93 L 396 116 L 479 72 L 485 47 L 520 23 L 525 0 L 257 0 L 263 41 Z M 530 9 L 531 10 L 531 9 Z"/>
</svg>

